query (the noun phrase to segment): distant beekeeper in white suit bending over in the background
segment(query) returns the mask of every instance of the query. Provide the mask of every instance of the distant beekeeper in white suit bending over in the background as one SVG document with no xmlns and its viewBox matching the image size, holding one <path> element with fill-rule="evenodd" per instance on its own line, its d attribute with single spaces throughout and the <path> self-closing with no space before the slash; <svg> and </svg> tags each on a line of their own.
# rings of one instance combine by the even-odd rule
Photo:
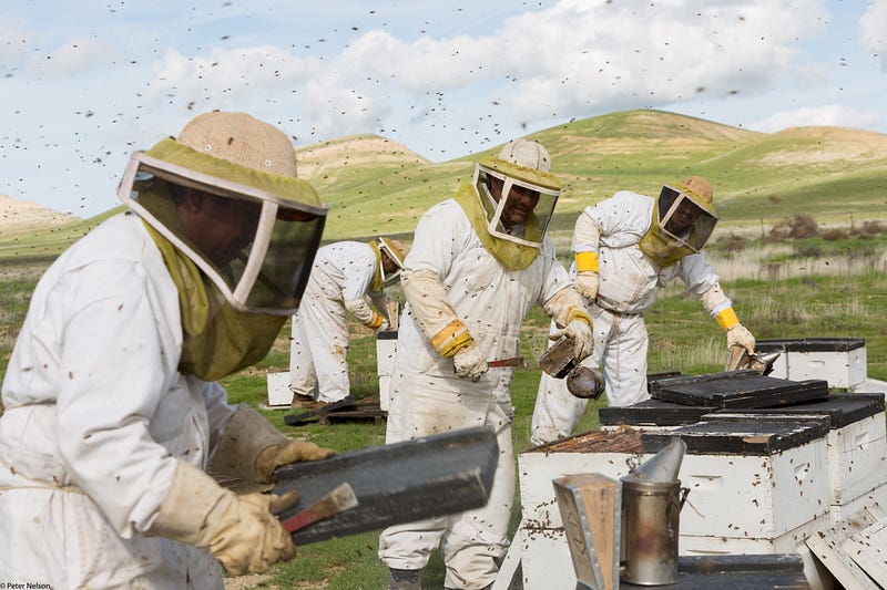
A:
<svg viewBox="0 0 887 590">
<path fill-rule="evenodd" d="M 386 287 L 395 284 L 407 247 L 391 238 L 338 241 L 317 250 L 308 286 L 293 315 L 289 389 L 294 408 L 354 403 L 348 379 L 346 311 L 371 330 L 387 330 Z M 367 302 L 373 302 L 374 310 Z"/>
</svg>

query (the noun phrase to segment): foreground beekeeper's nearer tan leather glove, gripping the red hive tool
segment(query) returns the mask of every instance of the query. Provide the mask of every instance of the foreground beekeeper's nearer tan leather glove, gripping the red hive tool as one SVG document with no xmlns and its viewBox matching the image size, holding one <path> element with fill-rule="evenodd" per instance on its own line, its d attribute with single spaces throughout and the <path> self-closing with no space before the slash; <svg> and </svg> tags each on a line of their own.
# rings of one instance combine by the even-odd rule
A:
<svg viewBox="0 0 887 590">
<path fill-rule="evenodd" d="M 179 460 L 170 490 L 145 535 L 206 547 L 231 573 L 261 573 L 296 555 L 289 534 L 274 514 L 297 501 L 295 491 L 237 496 Z"/>
</svg>

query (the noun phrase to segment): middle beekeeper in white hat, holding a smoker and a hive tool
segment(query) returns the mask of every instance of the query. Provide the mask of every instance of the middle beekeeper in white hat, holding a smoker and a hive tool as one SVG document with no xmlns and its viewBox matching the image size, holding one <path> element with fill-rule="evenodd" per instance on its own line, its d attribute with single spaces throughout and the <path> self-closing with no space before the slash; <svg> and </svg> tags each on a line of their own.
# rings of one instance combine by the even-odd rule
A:
<svg viewBox="0 0 887 590">
<path fill-rule="evenodd" d="M 486 588 L 508 546 L 514 497 L 510 384 L 520 327 L 539 303 L 591 352 L 591 320 L 544 237 L 560 185 L 546 148 L 508 143 L 476 166 L 473 182 L 419 220 L 401 286 L 407 299 L 391 377 L 387 443 L 489 425 L 499 462 L 485 508 L 386 529 L 379 557 L 389 588 L 419 588 L 440 544 L 447 588 Z M 491 361 L 506 361 L 495 363 Z M 490 365 L 493 366 L 490 366 Z"/>
</svg>

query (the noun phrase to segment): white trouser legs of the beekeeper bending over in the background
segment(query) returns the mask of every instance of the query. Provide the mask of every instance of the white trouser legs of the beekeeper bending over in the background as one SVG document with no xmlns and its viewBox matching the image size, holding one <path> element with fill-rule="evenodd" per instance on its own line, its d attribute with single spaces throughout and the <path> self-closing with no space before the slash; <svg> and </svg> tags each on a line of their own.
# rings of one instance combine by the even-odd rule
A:
<svg viewBox="0 0 887 590">
<path fill-rule="evenodd" d="M 349 343 L 345 308 L 335 300 L 306 294 L 293 315 L 289 387 L 322 402 L 344 398 L 350 392 Z"/>
</svg>

